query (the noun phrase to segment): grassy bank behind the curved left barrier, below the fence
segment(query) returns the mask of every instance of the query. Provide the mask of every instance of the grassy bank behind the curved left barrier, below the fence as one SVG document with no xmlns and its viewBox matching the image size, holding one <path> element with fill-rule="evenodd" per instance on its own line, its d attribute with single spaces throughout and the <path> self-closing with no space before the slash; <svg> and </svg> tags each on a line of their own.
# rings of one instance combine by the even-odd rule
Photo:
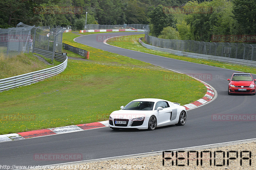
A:
<svg viewBox="0 0 256 170">
<path fill-rule="evenodd" d="M 55 63 L 58 65 L 58 63 Z M 31 53 L 21 53 L 13 57 L 0 55 L 0 79 L 26 74 L 55 65 L 46 65 Z"/>
</svg>

